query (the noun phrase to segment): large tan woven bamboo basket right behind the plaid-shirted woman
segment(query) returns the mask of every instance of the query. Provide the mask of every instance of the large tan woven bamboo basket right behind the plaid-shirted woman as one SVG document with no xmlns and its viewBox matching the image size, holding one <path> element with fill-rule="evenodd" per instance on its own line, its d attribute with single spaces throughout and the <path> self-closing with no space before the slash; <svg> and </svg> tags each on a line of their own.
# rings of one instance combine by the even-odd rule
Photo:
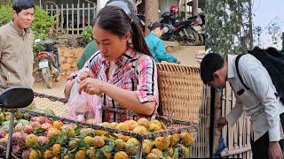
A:
<svg viewBox="0 0 284 159">
<path fill-rule="evenodd" d="M 203 84 L 200 69 L 177 64 L 157 64 L 160 105 L 165 117 L 198 123 Z"/>
</svg>

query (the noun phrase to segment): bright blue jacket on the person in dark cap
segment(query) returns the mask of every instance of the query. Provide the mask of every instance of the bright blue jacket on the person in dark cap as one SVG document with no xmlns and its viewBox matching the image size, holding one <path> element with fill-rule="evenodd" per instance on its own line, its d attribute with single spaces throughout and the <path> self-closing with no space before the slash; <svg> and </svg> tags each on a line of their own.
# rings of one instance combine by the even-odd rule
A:
<svg viewBox="0 0 284 159">
<path fill-rule="evenodd" d="M 162 42 L 162 40 L 155 35 L 154 33 L 150 32 L 145 41 L 154 57 L 154 61 L 157 63 L 161 63 L 161 61 L 167 61 L 170 63 L 176 63 L 177 57 L 170 55 Z"/>
</svg>

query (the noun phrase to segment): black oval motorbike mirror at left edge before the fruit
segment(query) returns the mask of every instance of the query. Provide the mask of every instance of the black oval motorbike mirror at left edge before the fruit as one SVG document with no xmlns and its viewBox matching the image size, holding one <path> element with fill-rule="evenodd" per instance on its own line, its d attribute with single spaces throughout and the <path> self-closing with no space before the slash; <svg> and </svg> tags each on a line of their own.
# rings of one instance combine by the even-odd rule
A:
<svg viewBox="0 0 284 159">
<path fill-rule="evenodd" d="M 34 91 L 28 87 L 10 87 L 0 94 L 0 107 L 19 109 L 27 107 L 34 100 Z"/>
</svg>

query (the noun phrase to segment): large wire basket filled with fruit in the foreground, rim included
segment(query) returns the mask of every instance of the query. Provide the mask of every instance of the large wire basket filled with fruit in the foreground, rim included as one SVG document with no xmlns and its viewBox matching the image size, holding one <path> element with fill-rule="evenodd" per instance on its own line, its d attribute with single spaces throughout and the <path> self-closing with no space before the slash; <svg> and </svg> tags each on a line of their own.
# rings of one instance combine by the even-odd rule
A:
<svg viewBox="0 0 284 159">
<path fill-rule="evenodd" d="M 67 102 L 51 95 L 35 96 Z M 135 120 L 94 125 L 32 110 L 17 111 L 12 158 L 189 158 L 198 126 L 167 117 L 149 121 L 132 111 L 110 108 L 103 111 Z M 8 112 L 3 115 L 9 118 Z M 0 132 L 3 148 L 7 141 L 3 130 L 9 121 L 4 122 Z"/>
</svg>

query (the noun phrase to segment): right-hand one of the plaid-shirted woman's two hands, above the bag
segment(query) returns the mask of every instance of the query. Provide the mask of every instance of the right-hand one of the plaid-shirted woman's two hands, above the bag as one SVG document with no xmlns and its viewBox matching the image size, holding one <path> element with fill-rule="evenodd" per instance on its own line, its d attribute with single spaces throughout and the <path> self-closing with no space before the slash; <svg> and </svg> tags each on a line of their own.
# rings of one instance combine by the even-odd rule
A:
<svg viewBox="0 0 284 159">
<path fill-rule="evenodd" d="M 85 78 L 79 82 L 79 93 L 81 94 L 84 91 L 89 95 L 101 95 L 104 83 L 99 79 Z"/>
</svg>

